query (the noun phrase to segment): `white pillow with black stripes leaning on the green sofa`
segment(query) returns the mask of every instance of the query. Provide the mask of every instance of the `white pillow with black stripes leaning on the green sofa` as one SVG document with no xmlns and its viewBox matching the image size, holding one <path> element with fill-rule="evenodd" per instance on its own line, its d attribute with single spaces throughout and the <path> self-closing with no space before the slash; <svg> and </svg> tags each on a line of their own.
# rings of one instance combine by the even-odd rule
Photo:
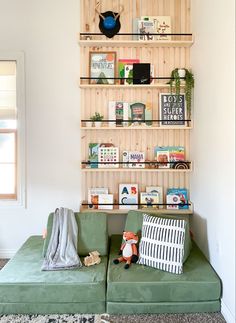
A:
<svg viewBox="0 0 236 323">
<path fill-rule="evenodd" d="M 143 214 L 138 264 L 183 273 L 185 220 Z"/>
</svg>

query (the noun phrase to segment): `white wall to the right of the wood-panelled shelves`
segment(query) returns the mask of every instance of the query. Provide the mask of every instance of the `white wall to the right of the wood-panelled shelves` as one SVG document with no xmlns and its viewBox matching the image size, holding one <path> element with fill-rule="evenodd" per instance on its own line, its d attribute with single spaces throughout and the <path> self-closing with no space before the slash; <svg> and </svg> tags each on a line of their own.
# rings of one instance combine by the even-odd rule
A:
<svg viewBox="0 0 236 323">
<path fill-rule="evenodd" d="M 228 322 L 235 322 L 234 6 L 234 0 L 192 1 L 192 224 L 198 245 L 222 280 Z"/>
</svg>

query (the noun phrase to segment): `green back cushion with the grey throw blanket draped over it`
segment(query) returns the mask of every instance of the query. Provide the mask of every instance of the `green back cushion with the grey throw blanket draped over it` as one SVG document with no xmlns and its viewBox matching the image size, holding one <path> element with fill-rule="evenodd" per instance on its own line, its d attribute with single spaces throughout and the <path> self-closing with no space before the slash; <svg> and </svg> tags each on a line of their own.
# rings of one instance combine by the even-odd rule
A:
<svg viewBox="0 0 236 323">
<path fill-rule="evenodd" d="M 78 254 L 87 256 L 89 252 L 97 250 L 100 255 L 107 255 L 108 233 L 107 215 L 103 212 L 75 212 L 78 224 Z M 44 242 L 43 255 L 45 256 L 52 232 L 53 213 L 49 214 L 47 236 Z"/>
</svg>

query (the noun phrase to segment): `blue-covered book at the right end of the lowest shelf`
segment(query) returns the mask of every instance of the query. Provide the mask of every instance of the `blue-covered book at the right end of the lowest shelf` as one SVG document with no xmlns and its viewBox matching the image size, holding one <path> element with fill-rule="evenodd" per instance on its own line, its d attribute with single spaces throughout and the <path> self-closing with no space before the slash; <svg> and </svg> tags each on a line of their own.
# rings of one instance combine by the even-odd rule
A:
<svg viewBox="0 0 236 323">
<path fill-rule="evenodd" d="M 168 188 L 166 193 L 166 203 L 168 210 L 188 209 L 188 192 L 185 188 Z"/>
</svg>

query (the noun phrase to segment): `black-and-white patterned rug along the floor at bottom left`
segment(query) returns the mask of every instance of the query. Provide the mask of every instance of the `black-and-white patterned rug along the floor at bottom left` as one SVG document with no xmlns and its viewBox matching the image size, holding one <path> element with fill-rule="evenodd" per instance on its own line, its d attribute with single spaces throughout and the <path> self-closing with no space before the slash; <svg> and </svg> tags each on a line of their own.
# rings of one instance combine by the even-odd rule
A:
<svg viewBox="0 0 236 323">
<path fill-rule="evenodd" d="M 0 315 L 0 323 L 110 323 L 108 315 Z"/>
</svg>

